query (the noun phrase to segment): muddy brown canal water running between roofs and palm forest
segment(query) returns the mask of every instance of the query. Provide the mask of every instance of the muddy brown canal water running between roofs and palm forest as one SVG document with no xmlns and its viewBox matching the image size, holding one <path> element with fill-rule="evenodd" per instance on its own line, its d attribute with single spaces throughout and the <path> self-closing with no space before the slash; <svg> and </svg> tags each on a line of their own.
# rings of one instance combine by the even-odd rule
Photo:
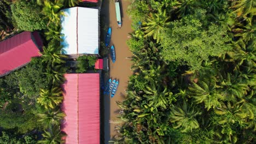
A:
<svg viewBox="0 0 256 144">
<path fill-rule="evenodd" d="M 129 33 L 132 32 L 131 20 L 127 17 L 126 10 L 129 1 L 123 0 L 120 2 L 120 10 L 122 17 L 122 27 L 118 28 L 117 19 L 115 16 L 115 4 L 113 0 L 103 0 L 101 17 L 103 17 L 104 25 L 106 27 L 110 26 L 112 28 L 112 37 L 110 45 L 114 45 L 117 60 L 115 63 L 109 61 L 109 76 L 112 79 L 119 80 L 119 87 L 117 94 L 114 98 L 109 98 L 104 95 L 104 141 L 108 143 L 110 139 L 116 133 L 114 131 L 115 124 L 109 123 L 109 120 L 114 121 L 117 119 L 115 116 L 118 115 L 118 106 L 115 101 L 121 101 L 125 98 L 125 89 L 128 84 L 129 76 L 132 74 L 131 62 L 127 57 L 131 57 L 131 52 L 126 45 L 126 41 Z M 106 77 L 107 79 L 107 77 Z"/>
</svg>

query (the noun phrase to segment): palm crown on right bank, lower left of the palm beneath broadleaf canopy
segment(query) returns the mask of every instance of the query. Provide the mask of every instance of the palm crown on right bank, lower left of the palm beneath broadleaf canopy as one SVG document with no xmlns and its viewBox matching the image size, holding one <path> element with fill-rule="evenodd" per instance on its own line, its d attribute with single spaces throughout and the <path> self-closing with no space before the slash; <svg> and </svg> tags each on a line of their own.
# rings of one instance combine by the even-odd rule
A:
<svg viewBox="0 0 256 144">
<path fill-rule="evenodd" d="M 199 128 L 196 116 L 201 115 L 201 112 L 195 111 L 194 108 L 194 106 L 188 107 L 185 101 L 183 101 L 183 106 L 171 107 L 170 121 L 176 123 L 175 129 L 182 128 L 182 132 L 187 132 Z"/>
</svg>

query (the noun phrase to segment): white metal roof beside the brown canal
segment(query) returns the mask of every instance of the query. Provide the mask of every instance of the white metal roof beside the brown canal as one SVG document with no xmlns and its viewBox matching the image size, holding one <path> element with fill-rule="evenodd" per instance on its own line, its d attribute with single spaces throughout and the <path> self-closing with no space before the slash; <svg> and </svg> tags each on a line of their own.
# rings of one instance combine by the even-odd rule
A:
<svg viewBox="0 0 256 144">
<path fill-rule="evenodd" d="M 98 10 L 74 7 L 63 10 L 61 17 L 62 53 L 98 54 Z"/>
</svg>

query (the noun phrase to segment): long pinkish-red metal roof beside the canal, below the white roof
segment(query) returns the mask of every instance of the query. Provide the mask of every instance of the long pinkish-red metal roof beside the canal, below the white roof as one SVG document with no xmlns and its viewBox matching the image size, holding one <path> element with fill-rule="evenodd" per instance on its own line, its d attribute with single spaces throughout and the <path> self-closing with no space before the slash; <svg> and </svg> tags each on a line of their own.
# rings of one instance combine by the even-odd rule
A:
<svg viewBox="0 0 256 144">
<path fill-rule="evenodd" d="M 100 143 L 100 74 L 65 74 L 61 124 L 66 143 Z"/>
</svg>

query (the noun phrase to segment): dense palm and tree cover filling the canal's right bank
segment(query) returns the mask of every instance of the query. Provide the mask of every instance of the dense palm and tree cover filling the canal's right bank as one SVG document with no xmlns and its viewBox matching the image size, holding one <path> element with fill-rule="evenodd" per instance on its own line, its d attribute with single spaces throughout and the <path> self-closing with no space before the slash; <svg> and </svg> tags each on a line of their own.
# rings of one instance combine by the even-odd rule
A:
<svg viewBox="0 0 256 144">
<path fill-rule="evenodd" d="M 110 142 L 254 143 L 255 2 L 132 1 L 129 14 L 134 74 Z"/>
</svg>

